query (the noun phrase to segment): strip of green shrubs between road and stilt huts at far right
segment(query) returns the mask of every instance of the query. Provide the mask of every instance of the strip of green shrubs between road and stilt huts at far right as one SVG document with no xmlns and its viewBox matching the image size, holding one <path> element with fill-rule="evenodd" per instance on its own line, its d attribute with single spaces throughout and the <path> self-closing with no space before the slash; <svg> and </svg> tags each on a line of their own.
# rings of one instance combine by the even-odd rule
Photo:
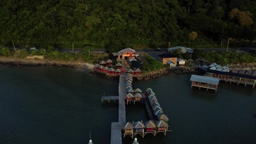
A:
<svg viewBox="0 0 256 144">
<path fill-rule="evenodd" d="M 239 63 L 251 63 L 256 62 L 255 56 L 251 56 L 248 53 L 240 52 L 221 52 L 217 53 L 215 50 L 212 52 L 205 52 L 203 50 L 195 49 L 192 58 L 203 58 L 209 62 L 216 62 L 217 64 L 239 64 Z"/>
</svg>

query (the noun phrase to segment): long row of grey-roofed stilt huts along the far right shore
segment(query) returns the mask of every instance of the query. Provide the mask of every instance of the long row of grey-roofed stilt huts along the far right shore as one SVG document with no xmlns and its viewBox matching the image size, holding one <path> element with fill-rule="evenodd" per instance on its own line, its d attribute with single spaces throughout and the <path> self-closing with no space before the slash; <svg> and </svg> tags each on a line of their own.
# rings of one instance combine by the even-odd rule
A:
<svg viewBox="0 0 256 144">
<path fill-rule="evenodd" d="M 237 83 L 237 85 L 242 83 L 245 84 L 245 86 L 252 85 L 252 88 L 256 85 L 256 71 L 239 69 L 230 71 L 228 67 L 221 67 L 216 63 L 209 65 L 209 67 L 206 65 L 203 65 L 202 67 L 205 68 L 206 76 L 218 78 L 226 83 L 234 82 Z"/>
</svg>

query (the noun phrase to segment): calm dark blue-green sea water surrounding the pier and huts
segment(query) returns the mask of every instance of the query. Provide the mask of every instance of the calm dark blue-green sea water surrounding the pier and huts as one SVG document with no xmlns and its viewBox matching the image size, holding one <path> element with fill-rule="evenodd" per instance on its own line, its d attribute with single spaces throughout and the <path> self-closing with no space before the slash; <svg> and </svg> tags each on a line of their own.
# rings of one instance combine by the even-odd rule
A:
<svg viewBox="0 0 256 144">
<path fill-rule="evenodd" d="M 218 91 L 190 88 L 190 75 L 169 74 L 133 82 L 152 88 L 169 116 L 166 136 L 147 134 L 144 143 L 256 143 L 256 92 L 220 83 Z M 118 80 L 67 68 L 0 67 L 0 143 L 110 143 L 118 103 L 100 97 L 118 95 Z M 126 107 L 127 121 L 147 121 L 144 106 Z M 125 144 L 132 139 L 126 137 Z"/>
</svg>

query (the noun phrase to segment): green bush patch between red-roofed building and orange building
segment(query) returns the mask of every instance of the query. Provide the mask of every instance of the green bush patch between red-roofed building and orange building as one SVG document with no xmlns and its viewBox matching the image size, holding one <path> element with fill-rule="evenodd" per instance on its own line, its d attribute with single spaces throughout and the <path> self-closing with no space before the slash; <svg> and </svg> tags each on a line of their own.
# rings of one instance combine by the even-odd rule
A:
<svg viewBox="0 0 256 144">
<path fill-rule="evenodd" d="M 142 65 L 141 65 L 141 71 L 142 73 L 148 73 L 150 71 L 160 70 L 164 67 L 165 65 L 161 64 L 156 59 L 152 58 L 149 55 L 145 55 L 144 61 L 142 62 Z"/>
</svg>

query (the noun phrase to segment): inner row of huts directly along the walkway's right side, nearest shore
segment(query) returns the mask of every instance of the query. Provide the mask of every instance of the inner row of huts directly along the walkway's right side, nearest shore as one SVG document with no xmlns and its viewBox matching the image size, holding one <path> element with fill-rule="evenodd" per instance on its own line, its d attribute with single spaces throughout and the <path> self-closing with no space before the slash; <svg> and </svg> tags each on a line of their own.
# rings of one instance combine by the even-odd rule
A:
<svg viewBox="0 0 256 144">
<path fill-rule="evenodd" d="M 133 89 L 132 88 L 133 76 L 130 73 L 126 74 L 126 103 L 128 104 L 129 101 L 142 101 L 142 91 L 139 88 Z"/>
</svg>

